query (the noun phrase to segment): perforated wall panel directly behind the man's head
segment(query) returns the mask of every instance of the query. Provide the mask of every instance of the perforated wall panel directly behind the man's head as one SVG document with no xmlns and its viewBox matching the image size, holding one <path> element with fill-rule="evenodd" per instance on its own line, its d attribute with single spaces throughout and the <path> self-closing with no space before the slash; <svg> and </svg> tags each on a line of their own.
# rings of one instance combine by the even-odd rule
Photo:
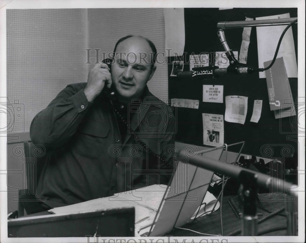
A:
<svg viewBox="0 0 306 243">
<path fill-rule="evenodd" d="M 89 39 L 91 55 L 94 49 L 112 52 L 118 39 L 126 35 L 141 35 L 150 39 L 157 52 L 165 51 L 165 27 L 162 9 L 88 9 Z M 102 61 L 99 55 L 99 61 Z M 159 56 L 159 61 L 166 60 Z M 95 57 L 90 58 L 91 63 Z M 88 64 L 89 70 L 94 64 Z M 149 90 L 162 101 L 168 99 L 168 71 L 166 64 L 156 64 L 153 78 L 148 82 Z"/>
</svg>

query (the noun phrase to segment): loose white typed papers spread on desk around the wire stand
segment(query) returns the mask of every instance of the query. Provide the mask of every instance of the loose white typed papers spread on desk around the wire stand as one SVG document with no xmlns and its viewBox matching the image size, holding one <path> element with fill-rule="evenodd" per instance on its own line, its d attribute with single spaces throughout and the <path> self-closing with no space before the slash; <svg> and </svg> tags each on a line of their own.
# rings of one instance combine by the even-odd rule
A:
<svg viewBox="0 0 306 243">
<path fill-rule="evenodd" d="M 116 193 L 111 197 L 97 198 L 69 206 L 53 208 L 50 209 L 49 212 L 54 214 L 74 214 L 132 206 L 135 207 L 136 233 L 152 225 L 164 194 L 168 189 L 169 187 L 166 185 L 152 185 L 136 190 Z M 216 201 L 217 199 L 211 193 L 207 192 L 197 217 L 205 215 L 206 212 L 210 212 Z M 217 202 L 214 211 L 217 210 L 219 206 L 220 203 Z M 198 210 L 193 215 L 193 218 L 197 212 Z"/>
</svg>

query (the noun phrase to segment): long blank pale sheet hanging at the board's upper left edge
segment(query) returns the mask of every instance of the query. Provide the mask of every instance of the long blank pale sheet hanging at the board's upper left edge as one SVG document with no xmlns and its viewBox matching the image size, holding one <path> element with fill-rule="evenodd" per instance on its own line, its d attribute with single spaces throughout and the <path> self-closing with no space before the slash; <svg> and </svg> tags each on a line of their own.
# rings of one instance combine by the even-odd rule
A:
<svg viewBox="0 0 306 243">
<path fill-rule="evenodd" d="M 166 57 L 181 56 L 185 47 L 185 18 L 183 8 L 164 8 Z M 176 52 L 177 54 L 175 54 Z"/>
</svg>

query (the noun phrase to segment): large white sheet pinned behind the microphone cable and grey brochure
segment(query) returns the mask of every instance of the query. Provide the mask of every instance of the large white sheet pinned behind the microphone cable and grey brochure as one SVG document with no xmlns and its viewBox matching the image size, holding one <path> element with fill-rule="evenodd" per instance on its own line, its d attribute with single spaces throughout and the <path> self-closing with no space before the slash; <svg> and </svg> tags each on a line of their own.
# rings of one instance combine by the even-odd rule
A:
<svg viewBox="0 0 306 243">
<path fill-rule="evenodd" d="M 280 15 L 257 17 L 256 20 L 278 18 L 290 18 L 290 15 L 289 13 L 285 13 Z M 259 68 L 263 68 L 263 62 L 273 59 L 279 37 L 285 28 L 285 25 L 256 27 Z M 297 78 L 297 61 L 291 27 L 287 30 L 282 39 L 277 57 L 284 58 L 288 78 Z M 259 72 L 259 78 L 265 77 L 265 72 Z"/>
</svg>

